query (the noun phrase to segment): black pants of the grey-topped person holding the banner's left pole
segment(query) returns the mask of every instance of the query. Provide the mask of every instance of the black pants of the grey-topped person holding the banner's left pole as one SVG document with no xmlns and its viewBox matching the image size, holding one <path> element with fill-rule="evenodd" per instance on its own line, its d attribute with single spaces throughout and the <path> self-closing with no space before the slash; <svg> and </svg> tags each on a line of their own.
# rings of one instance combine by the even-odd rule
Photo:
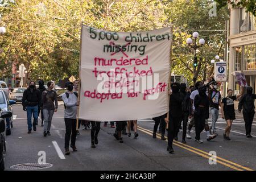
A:
<svg viewBox="0 0 256 182">
<path fill-rule="evenodd" d="M 76 144 L 76 119 L 64 118 L 66 133 L 65 133 L 65 148 L 69 147 L 69 140 L 71 137 L 71 146 Z"/>
</svg>

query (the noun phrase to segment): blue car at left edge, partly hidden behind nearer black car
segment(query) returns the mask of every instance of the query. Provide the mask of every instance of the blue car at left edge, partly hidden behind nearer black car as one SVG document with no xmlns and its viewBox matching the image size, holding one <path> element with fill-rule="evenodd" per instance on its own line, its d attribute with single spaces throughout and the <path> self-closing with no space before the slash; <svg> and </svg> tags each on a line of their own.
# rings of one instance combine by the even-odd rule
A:
<svg viewBox="0 0 256 182">
<path fill-rule="evenodd" d="M 13 114 L 13 107 L 12 105 L 16 104 L 13 100 L 8 100 L 5 96 L 3 90 L 0 90 L 0 110 L 1 111 L 10 111 Z M 13 116 L 10 118 L 6 118 L 6 135 L 11 134 L 11 128 L 13 127 Z"/>
</svg>

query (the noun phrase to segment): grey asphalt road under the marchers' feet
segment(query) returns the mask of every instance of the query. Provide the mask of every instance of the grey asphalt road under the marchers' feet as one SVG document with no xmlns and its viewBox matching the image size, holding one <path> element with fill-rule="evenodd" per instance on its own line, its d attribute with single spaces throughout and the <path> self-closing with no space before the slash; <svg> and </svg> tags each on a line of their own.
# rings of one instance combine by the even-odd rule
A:
<svg viewBox="0 0 256 182">
<path fill-rule="evenodd" d="M 222 135 L 225 121 L 217 122 L 218 137 L 210 142 L 206 134 L 201 134 L 203 144 L 196 143 L 193 138 L 182 144 L 181 133 L 178 142 L 174 143 L 175 154 L 166 151 L 167 142 L 152 138 L 154 122 L 151 119 L 138 121 L 139 137 L 123 137 L 124 143 L 119 143 L 113 137 L 115 129 L 110 125 L 104 127 L 98 136 L 96 148 L 90 147 L 90 130 L 82 131 L 77 136 L 78 152 L 71 152 L 70 156 L 64 153 L 64 107 L 59 102 L 59 110 L 53 115 L 51 136 L 43 137 L 43 127 L 27 134 L 26 112 L 21 105 L 14 106 L 14 122 L 12 134 L 6 137 L 7 152 L 5 156 L 6 170 L 16 164 L 40 162 L 40 156 L 46 154 L 46 163 L 52 167 L 40 170 L 251 170 L 256 169 L 256 122 L 253 123 L 252 135 L 245 137 L 244 122 L 240 118 L 234 121 L 230 138 L 224 140 Z M 40 123 L 40 119 L 39 119 Z M 108 123 L 109 124 L 109 123 Z M 192 130 L 195 130 L 193 128 Z M 158 136 L 159 137 L 159 136 Z M 60 148 L 60 150 L 58 150 Z M 209 152 L 216 152 L 217 164 L 214 163 Z M 44 153 L 45 152 L 45 153 Z"/>
</svg>

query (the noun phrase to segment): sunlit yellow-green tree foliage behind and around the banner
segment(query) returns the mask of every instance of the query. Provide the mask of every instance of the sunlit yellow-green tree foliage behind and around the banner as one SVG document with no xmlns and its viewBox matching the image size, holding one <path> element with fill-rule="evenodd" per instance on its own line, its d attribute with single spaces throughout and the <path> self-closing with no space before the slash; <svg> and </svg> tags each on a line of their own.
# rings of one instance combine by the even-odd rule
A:
<svg viewBox="0 0 256 182">
<path fill-rule="evenodd" d="M 0 1 L 0 26 L 7 31 L 3 41 L 0 39 L 4 49 L 0 54 L 0 69 L 8 72 L 11 64 L 23 63 L 33 80 L 78 77 L 81 22 L 110 31 L 145 31 L 172 25 L 172 71 L 192 80 L 193 52 L 185 40 L 193 29 L 224 30 L 228 19 L 226 9 L 219 10 L 217 17 L 210 17 L 210 3 L 210 0 Z M 199 53 L 204 59 L 197 74 L 203 79 L 203 64 L 207 64 L 210 75 L 210 59 L 223 55 L 224 32 L 198 32 L 206 40 Z"/>
</svg>

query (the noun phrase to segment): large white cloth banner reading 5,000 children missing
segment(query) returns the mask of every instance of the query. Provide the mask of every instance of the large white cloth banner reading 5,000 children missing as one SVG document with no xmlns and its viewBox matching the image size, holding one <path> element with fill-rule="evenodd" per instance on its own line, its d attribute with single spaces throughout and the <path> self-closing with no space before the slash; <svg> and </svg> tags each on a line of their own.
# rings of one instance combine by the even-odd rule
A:
<svg viewBox="0 0 256 182">
<path fill-rule="evenodd" d="M 109 32 L 82 26 L 79 118 L 127 121 L 168 112 L 171 28 Z"/>
</svg>

